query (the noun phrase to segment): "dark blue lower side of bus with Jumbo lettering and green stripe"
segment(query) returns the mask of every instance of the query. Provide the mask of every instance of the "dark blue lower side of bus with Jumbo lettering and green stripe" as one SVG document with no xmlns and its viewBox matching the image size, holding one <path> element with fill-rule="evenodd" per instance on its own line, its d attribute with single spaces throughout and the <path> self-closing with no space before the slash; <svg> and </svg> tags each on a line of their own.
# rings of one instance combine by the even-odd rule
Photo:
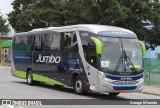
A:
<svg viewBox="0 0 160 108">
<path fill-rule="evenodd" d="M 13 52 L 15 71 L 12 75 L 26 78 L 31 69 L 33 80 L 56 85 L 71 86 L 73 73 L 79 73 L 84 82 L 83 88 L 89 90 L 81 58 L 78 53 L 60 52 Z"/>
</svg>

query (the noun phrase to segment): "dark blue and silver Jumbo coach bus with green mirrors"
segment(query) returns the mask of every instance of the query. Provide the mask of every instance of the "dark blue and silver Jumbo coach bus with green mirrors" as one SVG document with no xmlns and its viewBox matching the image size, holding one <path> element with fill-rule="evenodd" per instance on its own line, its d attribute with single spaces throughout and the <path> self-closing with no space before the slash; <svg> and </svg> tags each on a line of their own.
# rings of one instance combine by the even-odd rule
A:
<svg viewBox="0 0 160 108">
<path fill-rule="evenodd" d="M 118 95 L 143 89 L 145 45 L 132 31 L 79 24 L 17 33 L 12 45 L 12 75 L 86 91 Z"/>
</svg>

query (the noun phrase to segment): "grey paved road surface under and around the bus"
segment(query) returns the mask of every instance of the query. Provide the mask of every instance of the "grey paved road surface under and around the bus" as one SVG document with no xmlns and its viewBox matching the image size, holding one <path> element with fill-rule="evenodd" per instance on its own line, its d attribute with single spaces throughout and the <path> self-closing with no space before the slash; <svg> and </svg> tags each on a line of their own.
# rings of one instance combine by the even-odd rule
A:
<svg viewBox="0 0 160 108">
<path fill-rule="evenodd" d="M 60 88 L 46 84 L 29 86 L 26 80 L 12 76 L 10 67 L 0 67 L 0 99 L 103 99 L 110 102 L 116 99 L 160 99 L 160 96 L 142 93 L 122 93 L 116 97 L 94 93 L 80 96 L 74 94 L 71 88 Z"/>
</svg>

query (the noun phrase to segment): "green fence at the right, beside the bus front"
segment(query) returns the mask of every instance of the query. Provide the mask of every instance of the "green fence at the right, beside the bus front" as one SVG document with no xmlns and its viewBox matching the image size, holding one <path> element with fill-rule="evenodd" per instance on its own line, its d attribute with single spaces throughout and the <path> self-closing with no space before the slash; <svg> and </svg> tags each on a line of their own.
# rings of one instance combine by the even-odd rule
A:
<svg viewBox="0 0 160 108">
<path fill-rule="evenodd" d="M 144 59 L 144 82 L 160 86 L 160 59 Z"/>
</svg>

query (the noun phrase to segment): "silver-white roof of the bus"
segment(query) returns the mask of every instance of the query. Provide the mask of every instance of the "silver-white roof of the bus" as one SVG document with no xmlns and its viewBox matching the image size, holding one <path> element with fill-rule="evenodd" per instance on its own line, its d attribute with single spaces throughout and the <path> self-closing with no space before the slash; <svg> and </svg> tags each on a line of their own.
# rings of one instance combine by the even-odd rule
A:
<svg viewBox="0 0 160 108">
<path fill-rule="evenodd" d="M 39 28 L 33 29 L 29 32 L 17 33 L 16 35 L 26 35 L 26 34 L 34 34 L 34 33 L 48 33 L 48 32 L 71 32 L 71 31 L 88 31 L 94 34 L 111 36 L 111 37 L 131 37 L 137 38 L 136 34 L 130 30 L 108 26 L 108 25 L 96 25 L 96 24 L 78 24 L 78 25 L 70 25 L 70 26 L 62 26 L 62 27 L 48 27 L 48 28 Z"/>
</svg>

